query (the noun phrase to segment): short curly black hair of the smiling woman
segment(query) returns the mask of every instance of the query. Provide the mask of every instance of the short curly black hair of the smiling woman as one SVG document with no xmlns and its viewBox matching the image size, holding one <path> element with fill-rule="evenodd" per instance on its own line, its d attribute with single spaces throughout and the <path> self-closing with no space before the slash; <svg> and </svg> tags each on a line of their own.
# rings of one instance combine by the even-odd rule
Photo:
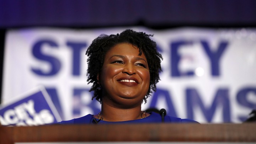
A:
<svg viewBox="0 0 256 144">
<path fill-rule="evenodd" d="M 144 53 L 148 62 L 150 88 L 147 95 L 144 97 L 146 103 L 146 99 L 150 96 L 152 91 L 156 91 L 156 84 L 160 80 L 159 73 L 162 71 L 160 63 L 161 60 L 163 60 L 162 55 L 156 50 L 156 42 L 152 41 L 149 37 L 153 37 L 153 35 L 133 30 L 125 30 L 116 35 L 111 34 L 108 36 L 106 34 L 101 34 L 92 41 L 86 51 L 86 55 L 88 56 L 87 81 L 88 84 L 92 83 L 90 91 L 94 91 L 92 100 L 95 98 L 100 103 L 102 102 L 102 90 L 98 89 L 100 84 L 98 83 L 97 76 L 101 73 L 106 53 L 117 44 L 130 43 L 139 48 L 139 55 Z"/>
</svg>

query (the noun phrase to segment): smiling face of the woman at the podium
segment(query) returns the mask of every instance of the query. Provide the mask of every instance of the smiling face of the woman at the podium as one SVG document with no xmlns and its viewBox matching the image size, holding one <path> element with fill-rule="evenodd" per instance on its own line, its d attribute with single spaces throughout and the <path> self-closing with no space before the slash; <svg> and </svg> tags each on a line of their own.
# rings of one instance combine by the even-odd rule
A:
<svg viewBox="0 0 256 144">
<path fill-rule="evenodd" d="M 132 44 L 117 44 L 106 53 L 102 66 L 102 103 L 122 107 L 141 105 L 149 81 L 145 55 L 139 55 L 139 49 Z"/>
</svg>

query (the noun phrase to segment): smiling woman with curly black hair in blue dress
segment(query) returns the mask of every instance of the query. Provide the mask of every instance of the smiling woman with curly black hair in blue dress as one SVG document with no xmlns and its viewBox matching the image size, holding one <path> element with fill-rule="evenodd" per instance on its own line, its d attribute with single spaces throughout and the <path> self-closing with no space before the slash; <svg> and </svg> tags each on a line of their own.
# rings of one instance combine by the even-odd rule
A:
<svg viewBox="0 0 256 144">
<path fill-rule="evenodd" d="M 160 80 L 162 56 L 156 50 L 153 35 L 133 30 L 120 34 L 101 34 L 87 49 L 88 84 L 101 103 L 95 115 L 62 121 L 71 123 L 146 123 L 161 122 L 157 113 L 141 111 L 141 104 L 156 90 Z M 165 116 L 165 122 L 195 122 Z"/>
</svg>

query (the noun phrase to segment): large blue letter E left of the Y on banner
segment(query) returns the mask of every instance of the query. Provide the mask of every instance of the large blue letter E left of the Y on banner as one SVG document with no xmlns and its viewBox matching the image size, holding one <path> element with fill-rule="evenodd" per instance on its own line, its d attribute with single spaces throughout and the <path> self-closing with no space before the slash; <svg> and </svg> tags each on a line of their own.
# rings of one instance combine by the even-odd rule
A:
<svg viewBox="0 0 256 144">
<path fill-rule="evenodd" d="M 178 49 L 184 45 L 191 45 L 191 41 L 177 41 L 171 43 L 171 76 L 191 76 L 194 75 L 193 71 L 187 71 L 186 73 L 181 73 L 178 69 L 178 63 L 180 62 L 181 56 L 178 54 Z"/>
</svg>

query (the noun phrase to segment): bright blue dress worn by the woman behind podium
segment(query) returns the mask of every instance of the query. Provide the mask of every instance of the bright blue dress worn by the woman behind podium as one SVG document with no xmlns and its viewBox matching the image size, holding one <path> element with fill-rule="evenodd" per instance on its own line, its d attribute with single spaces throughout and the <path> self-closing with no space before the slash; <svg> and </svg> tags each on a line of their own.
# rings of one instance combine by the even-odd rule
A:
<svg viewBox="0 0 256 144">
<path fill-rule="evenodd" d="M 123 122 L 108 122 L 108 121 L 99 121 L 98 119 L 93 117 L 92 114 L 87 114 L 86 116 L 71 119 L 69 121 L 61 121 L 59 124 L 127 124 L 127 123 L 161 123 L 162 118 L 160 114 L 152 112 L 150 116 L 142 119 L 135 119 L 132 121 L 123 121 Z M 165 116 L 165 123 L 198 123 L 197 121 L 193 121 L 192 119 L 181 119 L 177 117 Z"/>
</svg>

